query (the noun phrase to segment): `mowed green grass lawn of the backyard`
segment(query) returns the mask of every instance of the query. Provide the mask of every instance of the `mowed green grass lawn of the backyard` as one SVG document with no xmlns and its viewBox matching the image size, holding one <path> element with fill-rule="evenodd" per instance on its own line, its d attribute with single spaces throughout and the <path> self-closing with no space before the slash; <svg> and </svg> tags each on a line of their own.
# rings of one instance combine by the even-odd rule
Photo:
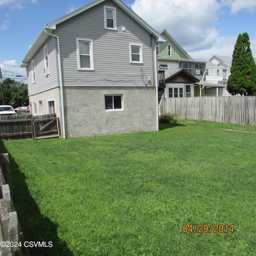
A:
<svg viewBox="0 0 256 256">
<path fill-rule="evenodd" d="M 256 134 L 164 124 L 1 146 L 25 240 L 53 241 L 31 256 L 256 255 Z"/>
</svg>

